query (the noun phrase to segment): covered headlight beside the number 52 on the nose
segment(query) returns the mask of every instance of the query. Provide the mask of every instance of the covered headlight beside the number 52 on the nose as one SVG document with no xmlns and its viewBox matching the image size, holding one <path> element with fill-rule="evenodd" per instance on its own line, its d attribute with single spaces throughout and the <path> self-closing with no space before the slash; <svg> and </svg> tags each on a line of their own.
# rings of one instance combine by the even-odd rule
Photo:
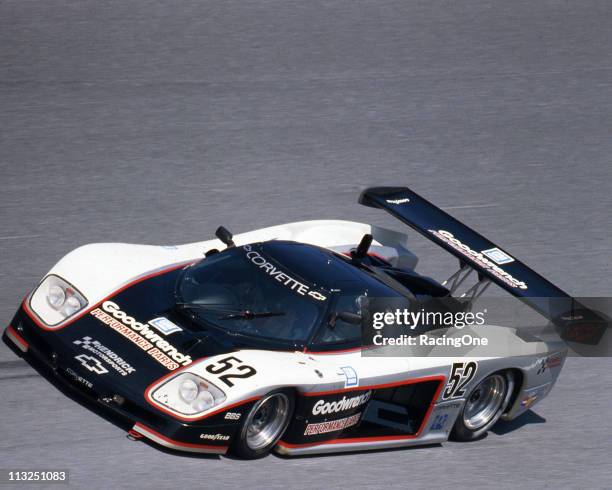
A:
<svg viewBox="0 0 612 490">
<path fill-rule="evenodd" d="M 183 416 L 196 416 L 225 401 L 225 393 L 197 374 L 182 372 L 151 392 L 153 401 Z"/>
</svg>

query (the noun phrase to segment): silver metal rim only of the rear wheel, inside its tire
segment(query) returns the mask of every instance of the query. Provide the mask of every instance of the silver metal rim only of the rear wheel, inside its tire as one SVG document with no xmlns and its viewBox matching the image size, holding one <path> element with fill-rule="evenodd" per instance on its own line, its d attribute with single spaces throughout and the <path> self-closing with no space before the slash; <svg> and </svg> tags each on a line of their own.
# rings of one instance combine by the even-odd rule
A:
<svg viewBox="0 0 612 490">
<path fill-rule="evenodd" d="M 494 420 L 506 398 L 506 387 L 506 378 L 494 374 L 470 393 L 463 409 L 463 423 L 468 429 L 481 429 Z"/>
</svg>

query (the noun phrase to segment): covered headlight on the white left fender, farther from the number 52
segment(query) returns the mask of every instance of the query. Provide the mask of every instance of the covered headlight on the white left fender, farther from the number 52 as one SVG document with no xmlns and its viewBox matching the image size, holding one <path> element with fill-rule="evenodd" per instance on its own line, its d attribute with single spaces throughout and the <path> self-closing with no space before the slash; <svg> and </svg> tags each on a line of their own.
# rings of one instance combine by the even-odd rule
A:
<svg viewBox="0 0 612 490">
<path fill-rule="evenodd" d="M 87 299 L 70 283 L 50 274 L 32 293 L 30 308 L 48 326 L 67 320 L 87 306 Z"/>
</svg>

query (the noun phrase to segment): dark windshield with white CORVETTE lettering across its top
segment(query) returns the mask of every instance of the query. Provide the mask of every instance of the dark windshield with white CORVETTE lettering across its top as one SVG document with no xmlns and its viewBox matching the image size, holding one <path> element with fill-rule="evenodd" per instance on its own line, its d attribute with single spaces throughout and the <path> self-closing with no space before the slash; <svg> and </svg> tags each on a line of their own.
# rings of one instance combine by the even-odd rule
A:
<svg viewBox="0 0 612 490">
<path fill-rule="evenodd" d="M 177 293 L 206 324 L 292 343 L 308 340 L 329 297 L 257 245 L 231 248 L 195 264 L 180 279 Z"/>
</svg>

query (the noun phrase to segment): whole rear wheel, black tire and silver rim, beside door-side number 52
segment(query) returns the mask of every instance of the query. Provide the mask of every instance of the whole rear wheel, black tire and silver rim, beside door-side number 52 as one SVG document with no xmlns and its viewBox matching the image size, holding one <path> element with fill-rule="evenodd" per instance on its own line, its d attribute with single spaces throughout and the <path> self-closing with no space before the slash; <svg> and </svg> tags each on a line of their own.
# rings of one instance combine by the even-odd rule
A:
<svg viewBox="0 0 612 490">
<path fill-rule="evenodd" d="M 514 375 L 511 371 L 493 373 L 484 378 L 467 395 L 450 439 L 473 441 L 483 437 L 506 411 L 513 392 Z"/>
</svg>

